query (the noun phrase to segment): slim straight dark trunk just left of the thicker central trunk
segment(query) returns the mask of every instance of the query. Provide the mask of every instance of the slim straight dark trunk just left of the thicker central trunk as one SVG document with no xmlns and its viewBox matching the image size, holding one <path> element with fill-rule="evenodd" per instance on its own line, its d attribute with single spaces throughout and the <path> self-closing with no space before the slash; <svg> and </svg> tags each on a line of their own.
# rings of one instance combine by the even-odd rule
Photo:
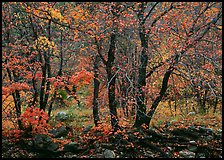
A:
<svg viewBox="0 0 224 160">
<path fill-rule="evenodd" d="M 93 118 L 94 124 L 97 127 L 99 122 L 99 109 L 98 109 L 98 95 L 99 95 L 99 86 L 100 82 L 98 80 L 99 70 L 99 56 L 96 55 L 94 59 L 94 95 L 93 95 Z"/>
</svg>

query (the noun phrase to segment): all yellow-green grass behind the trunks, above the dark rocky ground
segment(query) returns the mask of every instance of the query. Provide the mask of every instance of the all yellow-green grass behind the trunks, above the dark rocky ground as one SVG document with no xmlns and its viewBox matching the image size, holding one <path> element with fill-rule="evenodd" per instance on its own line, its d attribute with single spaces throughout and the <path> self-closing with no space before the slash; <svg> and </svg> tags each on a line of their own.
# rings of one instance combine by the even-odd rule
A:
<svg viewBox="0 0 224 160">
<path fill-rule="evenodd" d="M 174 102 L 171 103 L 172 107 L 169 107 L 168 101 L 161 102 L 156 109 L 155 114 L 151 120 L 151 126 L 160 126 L 165 122 L 170 122 L 175 120 L 176 122 L 182 124 L 183 126 L 188 126 L 191 124 L 196 125 L 206 125 L 214 130 L 220 129 L 222 127 L 222 114 L 221 114 L 221 106 L 217 109 L 217 113 L 213 113 L 209 110 L 206 114 L 195 114 L 188 115 L 189 112 L 192 112 L 191 107 L 186 108 L 186 104 L 184 102 L 179 102 L 177 104 L 177 109 L 174 111 Z M 190 102 L 189 106 L 195 105 L 194 102 Z M 180 106 L 182 108 L 180 108 Z M 70 115 L 70 118 L 65 121 L 65 124 L 73 127 L 77 131 L 83 129 L 83 127 L 88 126 L 93 123 L 93 115 L 92 109 L 82 107 L 79 109 L 77 105 L 73 105 L 67 108 L 59 108 L 53 111 L 53 115 L 56 115 L 59 111 L 64 111 Z M 134 116 L 126 117 L 123 115 L 122 108 L 117 109 L 119 124 L 123 127 L 130 128 L 134 124 Z M 101 122 L 110 126 L 110 115 L 109 108 L 104 107 L 100 108 L 100 119 Z M 50 122 L 52 125 L 56 125 L 58 123 L 54 118 Z"/>
</svg>

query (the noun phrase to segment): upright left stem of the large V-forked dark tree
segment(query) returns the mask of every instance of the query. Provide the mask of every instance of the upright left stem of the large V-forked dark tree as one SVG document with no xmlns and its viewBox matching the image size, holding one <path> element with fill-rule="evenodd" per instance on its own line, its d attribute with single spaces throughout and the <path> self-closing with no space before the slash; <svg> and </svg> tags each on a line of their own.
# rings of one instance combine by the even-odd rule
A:
<svg viewBox="0 0 224 160">
<path fill-rule="evenodd" d="M 137 115 L 136 115 L 136 121 L 133 127 L 140 127 L 144 122 L 146 125 L 148 125 L 147 121 L 148 118 L 146 115 L 146 105 L 145 105 L 145 95 L 144 95 L 144 91 L 143 88 L 146 86 L 146 78 L 148 76 L 150 76 L 153 73 L 152 72 L 149 75 L 146 75 L 146 67 L 147 67 L 147 63 L 148 63 L 148 55 L 147 55 L 147 51 L 148 51 L 148 33 L 146 33 L 146 29 L 145 29 L 145 22 L 146 19 L 149 17 L 149 15 L 151 14 L 151 12 L 153 11 L 154 7 L 158 4 L 155 3 L 150 11 L 148 12 L 148 14 L 144 17 L 144 12 L 145 9 L 147 8 L 146 6 L 147 2 L 142 2 L 139 7 L 140 10 L 138 11 L 137 17 L 139 20 L 139 37 L 141 40 L 141 47 L 142 47 L 142 51 L 141 51 L 141 55 L 140 55 L 140 67 L 139 67 L 139 75 L 138 75 L 138 93 L 136 96 L 137 99 Z M 160 19 L 162 16 L 164 16 L 168 11 L 170 11 L 173 7 L 171 6 L 170 9 L 164 11 L 160 16 L 158 16 L 153 23 L 151 24 L 151 26 L 153 26 L 158 19 Z M 161 97 L 162 98 L 162 97 Z M 161 100 L 157 100 L 158 102 L 160 102 Z M 157 101 L 153 104 L 156 105 Z M 158 104 L 157 104 L 158 105 Z M 153 107 L 152 107 L 153 108 Z M 151 112 L 152 114 L 154 113 Z"/>
</svg>

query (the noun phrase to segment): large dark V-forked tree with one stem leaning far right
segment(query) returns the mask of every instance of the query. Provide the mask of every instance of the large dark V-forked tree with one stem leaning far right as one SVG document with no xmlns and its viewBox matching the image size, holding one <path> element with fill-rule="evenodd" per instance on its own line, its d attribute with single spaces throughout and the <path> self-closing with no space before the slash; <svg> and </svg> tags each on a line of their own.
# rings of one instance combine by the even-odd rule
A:
<svg viewBox="0 0 224 160">
<path fill-rule="evenodd" d="M 140 9 L 138 10 L 138 18 L 139 18 L 140 24 L 144 24 L 145 23 L 144 20 L 146 20 L 146 18 L 148 17 L 147 15 L 149 15 L 151 13 L 151 11 L 154 9 L 154 7 L 156 5 L 157 5 L 157 3 L 155 3 L 154 6 L 151 7 L 151 10 L 148 12 L 148 14 L 146 14 L 146 16 L 144 18 L 143 14 L 144 14 L 145 4 L 144 3 L 140 3 L 139 4 L 139 8 Z M 180 6 L 181 7 L 186 7 L 186 6 L 189 7 L 190 5 L 191 4 L 180 5 Z M 196 5 L 199 5 L 199 4 L 196 4 Z M 173 8 L 175 8 L 175 10 Z M 177 10 L 180 11 L 179 10 L 179 4 L 178 3 L 177 4 L 172 4 L 171 3 L 169 5 L 169 7 L 167 9 L 165 9 L 164 12 L 159 14 L 159 16 L 157 16 L 153 20 L 153 22 L 151 24 L 151 27 L 153 27 L 157 23 L 157 21 L 159 19 L 161 19 L 165 14 L 167 14 L 171 10 L 174 10 L 174 12 L 176 12 Z M 193 15 L 191 8 L 189 10 L 187 10 L 187 11 L 188 11 L 188 13 L 191 13 L 191 15 Z M 181 11 L 180 11 L 180 13 L 186 14 L 186 13 L 183 13 Z M 188 13 L 187 13 L 187 15 L 188 15 Z M 185 54 L 187 54 L 188 50 L 190 48 L 195 47 L 196 44 L 198 42 L 200 42 L 200 40 L 205 36 L 205 34 L 209 32 L 211 26 L 217 23 L 217 21 L 221 17 L 221 13 L 217 11 L 215 15 L 210 15 L 210 16 L 213 16 L 213 19 L 210 20 L 210 21 L 207 20 L 206 21 L 207 23 L 203 27 L 201 26 L 201 24 L 198 24 L 198 27 L 196 27 L 197 26 L 196 25 L 197 24 L 197 20 L 199 19 L 199 17 L 203 17 L 203 12 L 202 13 L 198 13 L 198 17 L 196 17 L 196 20 L 194 20 L 193 23 L 189 25 L 190 26 L 189 28 L 186 28 L 187 27 L 186 24 L 185 25 L 183 24 L 183 30 L 185 31 L 185 35 L 184 36 L 187 36 L 187 38 L 184 39 L 184 41 L 183 41 L 181 46 L 178 46 L 180 48 L 179 51 L 177 51 L 177 49 L 174 48 L 174 51 L 176 51 L 175 54 L 173 54 L 171 56 L 171 58 L 169 58 L 169 60 L 166 60 L 166 62 L 167 61 L 169 62 L 168 63 L 169 67 L 165 71 L 160 92 L 159 92 L 158 96 L 155 98 L 155 100 L 153 101 L 152 106 L 150 108 L 150 111 L 147 113 L 147 115 L 145 114 L 146 107 L 144 105 L 144 94 L 142 92 L 142 87 L 145 86 L 145 84 L 146 84 L 146 82 L 145 82 L 146 81 L 146 77 L 149 77 L 153 73 L 153 71 L 155 69 L 157 69 L 160 66 L 162 66 L 164 64 L 167 64 L 167 63 L 159 63 L 157 66 L 155 66 L 153 68 L 153 70 L 151 70 L 148 73 L 148 75 L 146 75 L 146 66 L 147 66 L 148 56 L 145 53 L 145 50 L 148 48 L 148 46 L 147 46 L 148 43 L 147 43 L 145 37 L 147 36 L 147 34 L 146 34 L 144 26 L 140 26 L 141 28 L 139 29 L 139 35 L 140 35 L 141 44 L 142 44 L 141 65 L 140 65 L 140 68 L 139 68 L 139 80 L 138 80 L 138 84 L 139 84 L 139 92 L 138 92 L 139 95 L 138 96 L 140 96 L 140 97 L 137 97 L 137 98 L 139 98 L 139 102 L 138 102 L 138 112 L 137 112 L 136 123 L 134 125 L 135 127 L 139 127 L 143 123 L 145 123 L 147 126 L 149 125 L 149 123 L 151 121 L 151 118 L 152 118 L 152 116 L 153 116 L 153 114 L 154 114 L 154 112 L 155 112 L 159 102 L 162 100 L 163 96 L 165 95 L 165 92 L 167 90 L 168 80 L 170 78 L 171 73 L 177 67 L 177 65 L 180 62 L 181 58 L 183 58 L 185 56 Z M 189 21 L 191 19 L 191 17 L 188 17 L 188 18 L 189 19 L 187 21 Z M 160 23 L 162 23 L 162 22 L 160 22 Z M 183 23 L 186 23 L 186 20 Z M 174 24 L 172 24 L 172 25 L 174 25 Z M 174 26 L 171 27 L 171 26 L 165 26 L 164 25 L 164 27 L 169 29 L 169 28 L 175 28 L 176 26 L 174 25 Z M 192 33 L 191 30 L 194 27 L 198 28 L 198 30 Z M 178 35 L 180 36 L 181 33 L 178 32 Z M 192 35 L 194 35 L 194 36 L 192 36 Z M 176 47 L 176 46 L 174 45 L 174 47 Z"/>
</svg>

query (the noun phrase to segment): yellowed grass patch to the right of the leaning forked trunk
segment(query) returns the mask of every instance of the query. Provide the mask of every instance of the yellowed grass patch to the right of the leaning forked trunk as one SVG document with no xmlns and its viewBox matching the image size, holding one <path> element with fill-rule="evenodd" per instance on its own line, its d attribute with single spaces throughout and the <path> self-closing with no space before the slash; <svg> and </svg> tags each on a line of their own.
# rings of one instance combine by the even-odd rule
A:
<svg viewBox="0 0 224 160">
<path fill-rule="evenodd" d="M 189 103 L 189 105 L 195 105 L 195 103 Z M 178 104 L 181 106 L 181 102 Z M 173 105 L 172 105 L 173 106 Z M 170 122 L 172 120 L 175 120 L 177 122 L 183 123 L 183 125 L 205 125 L 209 128 L 212 128 L 214 130 L 222 128 L 222 106 L 220 105 L 217 108 L 217 112 L 213 113 L 212 109 L 208 110 L 207 113 L 201 114 L 197 113 L 194 115 L 188 115 L 189 112 L 192 112 L 192 110 L 189 108 L 186 108 L 184 102 L 182 103 L 182 108 L 177 106 L 176 112 L 174 111 L 173 107 L 172 110 L 170 110 L 168 102 L 161 102 L 156 109 L 155 114 L 153 115 L 153 118 L 151 120 L 151 125 L 154 126 L 160 126 L 161 122 Z M 181 111 L 182 110 L 182 111 Z"/>
</svg>

